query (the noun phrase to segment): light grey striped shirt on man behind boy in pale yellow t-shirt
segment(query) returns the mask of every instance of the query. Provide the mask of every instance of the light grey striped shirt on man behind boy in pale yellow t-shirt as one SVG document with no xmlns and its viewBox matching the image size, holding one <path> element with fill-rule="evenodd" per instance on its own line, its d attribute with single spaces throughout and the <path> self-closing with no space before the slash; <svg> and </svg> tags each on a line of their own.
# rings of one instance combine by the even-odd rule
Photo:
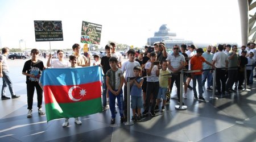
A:
<svg viewBox="0 0 256 142">
<path fill-rule="evenodd" d="M 185 57 L 183 55 L 180 55 L 180 54 L 175 57 L 174 53 L 170 53 L 167 56 L 166 60 L 171 62 L 172 68 L 177 69 L 181 65 L 181 61 L 185 62 Z"/>
</svg>

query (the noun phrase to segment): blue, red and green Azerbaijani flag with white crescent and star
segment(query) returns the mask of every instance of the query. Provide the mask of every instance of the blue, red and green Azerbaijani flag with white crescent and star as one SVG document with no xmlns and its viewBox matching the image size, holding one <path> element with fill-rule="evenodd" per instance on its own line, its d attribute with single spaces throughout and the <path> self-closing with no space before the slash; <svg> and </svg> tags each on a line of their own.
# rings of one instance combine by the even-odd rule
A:
<svg viewBox="0 0 256 142">
<path fill-rule="evenodd" d="M 40 82 L 44 88 L 47 122 L 102 112 L 100 66 L 45 69 Z"/>
</svg>

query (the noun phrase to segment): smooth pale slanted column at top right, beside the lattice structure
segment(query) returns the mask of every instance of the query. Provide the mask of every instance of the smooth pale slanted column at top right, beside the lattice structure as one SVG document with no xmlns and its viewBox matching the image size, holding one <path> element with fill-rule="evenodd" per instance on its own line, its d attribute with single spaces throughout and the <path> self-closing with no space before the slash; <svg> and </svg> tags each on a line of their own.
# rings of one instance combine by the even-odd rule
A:
<svg viewBox="0 0 256 142">
<path fill-rule="evenodd" d="M 240 10 L 242 45 L 247 45 L 248 33 L 249 33 L 249 27 L 248 27 L 249 26 L 249 20 L 248 20 L 249 4 L 248 4 L 248 0 L 238 0 L 238 6 L 239 6 L 239 10 Z"/>
</svg>

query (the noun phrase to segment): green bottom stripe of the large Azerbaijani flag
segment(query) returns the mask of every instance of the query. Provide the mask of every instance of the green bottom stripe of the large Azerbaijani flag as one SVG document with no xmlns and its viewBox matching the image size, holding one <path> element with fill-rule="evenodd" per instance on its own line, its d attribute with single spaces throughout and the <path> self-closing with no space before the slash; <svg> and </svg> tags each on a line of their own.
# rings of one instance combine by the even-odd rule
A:
<svg viewBox="0 0 256 142">
<path fill-rule="evenodd" d="M 59 118 L 74 118 L 102 112 L 101 98 L 74 103 L 47 103 L 47 121 Z"/>
</svg>

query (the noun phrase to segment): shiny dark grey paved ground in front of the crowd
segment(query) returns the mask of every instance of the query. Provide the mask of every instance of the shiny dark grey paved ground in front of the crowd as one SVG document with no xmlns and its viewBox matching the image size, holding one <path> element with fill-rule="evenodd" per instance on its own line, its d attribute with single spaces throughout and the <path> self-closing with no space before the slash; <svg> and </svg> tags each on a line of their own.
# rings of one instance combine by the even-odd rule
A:
<svg viewBox="0 0 256 142">
<path fill-rule="evenodd" d="M 146 116 L 132 126 L 121 124 L 118 115 L 117 124 L 111 125 L 108 109 L 82 117 L 81 126 L 71 118 L 69 127 L 63 128 L 63 119 L 47 123 L 45 115 L 38 115 L 36 94 L 33 116 L 26 117 L 24 62 L 9 60 L 14 89 L 21 97 L 0 101 L 0 141 L 256 141 L 255 85 L 250 86 L 251 91 L 237 91 L 217 100 L 211 100 L 212 91 L 204 89 L 208 103 L 193 100 L 193 92 L 188 90 L 187 110 L 176 110 L 177 101 L 171 100 L 166 112 Z"/>
</svg>

